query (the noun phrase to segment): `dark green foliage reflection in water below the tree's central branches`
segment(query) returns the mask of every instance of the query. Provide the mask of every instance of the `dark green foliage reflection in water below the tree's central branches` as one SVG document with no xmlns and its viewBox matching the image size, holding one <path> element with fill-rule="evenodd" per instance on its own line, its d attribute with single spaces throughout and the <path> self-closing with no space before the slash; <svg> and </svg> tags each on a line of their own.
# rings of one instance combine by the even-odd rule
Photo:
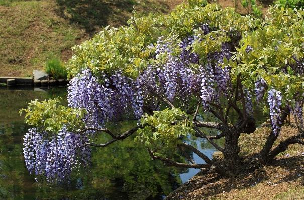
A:
<svg viewBox="0 0 304 200">
<path fill-rule="evenodd" d="M 151 160 L 144 145 L 135 144 L 127 138 L 112 148 L 96 148 L 92 168 L 98 171 L 97 177 L 119 180 L 115 186 L 129 199 L 160 199 L 180 186 L 178 174 L 183 169 L 164 167 L 162 162 Z"/>
</svg>

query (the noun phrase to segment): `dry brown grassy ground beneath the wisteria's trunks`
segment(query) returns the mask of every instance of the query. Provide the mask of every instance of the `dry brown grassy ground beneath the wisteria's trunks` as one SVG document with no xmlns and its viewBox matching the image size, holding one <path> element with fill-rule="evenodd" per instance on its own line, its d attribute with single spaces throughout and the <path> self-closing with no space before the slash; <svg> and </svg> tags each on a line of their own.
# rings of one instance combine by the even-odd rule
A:
<svg viewBox="0 0 304 200">
<path fill-rule="evenodd" d="M 274 147 L 294 135 L 295 122 L 282 127 Z M 246 159 L 259 152 L 270 131 L 266 124 L 252 134 L 242 134 L 239 140 L 240 157 Z M 244 163 L 244 167 L 246 164 Z M 204 174 L 199 172 L 185 184 L 172 192 L 169 199 L 304 199 L 304 146 L 289 145 L 268 165 L 236 176 Z"/>
</svg>

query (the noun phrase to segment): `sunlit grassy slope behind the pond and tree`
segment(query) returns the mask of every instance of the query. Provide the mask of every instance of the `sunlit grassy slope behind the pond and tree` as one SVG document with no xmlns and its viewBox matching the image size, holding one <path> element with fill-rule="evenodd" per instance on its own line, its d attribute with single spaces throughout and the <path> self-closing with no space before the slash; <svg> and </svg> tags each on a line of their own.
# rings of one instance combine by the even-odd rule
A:
<svg viewBox="0 0 304 200">
<path fill-rule="evenodd" d="M 63 62 L 71 47 L 92 38 L 102 27 L 126 25 L 138 12 L 169 13 L 182 1 L 0 0 L 0 76 L 32 76 L 48 59 Z"/>
</svg>

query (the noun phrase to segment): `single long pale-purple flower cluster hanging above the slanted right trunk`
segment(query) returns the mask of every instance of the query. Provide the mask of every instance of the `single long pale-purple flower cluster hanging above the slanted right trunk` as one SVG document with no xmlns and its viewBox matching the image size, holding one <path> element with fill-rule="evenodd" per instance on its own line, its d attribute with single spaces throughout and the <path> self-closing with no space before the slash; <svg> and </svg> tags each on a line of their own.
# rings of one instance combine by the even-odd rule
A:
<svg viewBox="0 0 304 200">
<path fill-rule="evenodd" d="M 272 124 L 272 129 L 275 135 L 277 135 L 280 131 L 279 124 L 282 122 L 280 121 L 280 114 L 281 109 L 280 106 L 282 105 L 282 94 L 280 91 L 276 91 L 274 88 L 268 91 L 268 104 L 270 108 L 270 120 Z"/>
</svg>

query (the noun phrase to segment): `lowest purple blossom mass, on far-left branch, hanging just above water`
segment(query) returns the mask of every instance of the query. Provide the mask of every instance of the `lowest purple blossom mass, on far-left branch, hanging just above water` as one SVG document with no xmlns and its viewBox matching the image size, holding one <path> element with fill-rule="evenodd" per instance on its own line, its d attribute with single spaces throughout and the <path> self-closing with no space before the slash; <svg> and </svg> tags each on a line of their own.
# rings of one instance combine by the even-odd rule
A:
<svg viewBox="0 0 304 200">
<path fill-rule="evenodd" d="M 87 166 L 91 160 L 88 147 L 78 148 L 88 142 L 86 137 L 66 131 L 65 127 L 58 134 L 29 129 L 24 138 L 24 155 L 26 166 L 36 175 L 46 176 L 47 181 L 56 178 L 64 180 L 71 171 L 82 165 Z"/>
</svg>

